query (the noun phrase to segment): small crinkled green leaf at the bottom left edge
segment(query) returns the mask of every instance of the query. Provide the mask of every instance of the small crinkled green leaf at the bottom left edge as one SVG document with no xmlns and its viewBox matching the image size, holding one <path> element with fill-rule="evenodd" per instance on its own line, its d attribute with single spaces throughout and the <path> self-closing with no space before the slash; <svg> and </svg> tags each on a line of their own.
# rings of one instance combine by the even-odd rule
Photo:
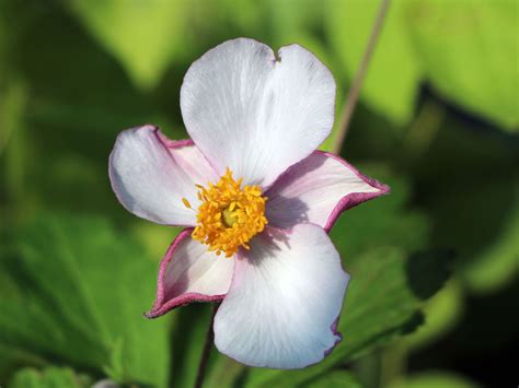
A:
<svg viewBox="0 0 519 388">
<path fill-rule="evenodd" d="M 88 388 L 92 380 L 67 367 L 49 366 L 43 371 L 24 368 L 18 372 L 8 388 Z"/>
</svg>

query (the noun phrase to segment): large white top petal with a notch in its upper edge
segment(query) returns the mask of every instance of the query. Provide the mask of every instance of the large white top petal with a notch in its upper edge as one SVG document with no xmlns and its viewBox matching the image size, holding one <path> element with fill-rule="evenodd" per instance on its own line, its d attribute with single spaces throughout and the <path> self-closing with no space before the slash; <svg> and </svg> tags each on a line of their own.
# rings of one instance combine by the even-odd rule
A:
<svg viewBox="0 0 519 388">
<path fill-rule="evenodd" d="M 181 90 L 187 131 L 217 172 L 264 187 L 330 134 L 334 105 L 335 81 L 313 54 L 246 38 L 207 51 Z"/>
</svg>

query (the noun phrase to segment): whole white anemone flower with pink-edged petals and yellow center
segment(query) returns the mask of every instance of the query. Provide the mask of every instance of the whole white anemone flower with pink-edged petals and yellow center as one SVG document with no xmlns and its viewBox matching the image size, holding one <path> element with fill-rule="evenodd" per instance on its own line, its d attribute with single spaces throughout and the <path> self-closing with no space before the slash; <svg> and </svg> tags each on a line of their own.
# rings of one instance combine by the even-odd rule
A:
<svg viewBox="0 0 519 388">
<path fill-rule="evenodd" d="M 332 73 L 313 54 L 239 38 L 185 75 L 192 140 L 153 126 L 119 134 L 109 176 L 120 203 L 186 227 L 162 259 L 148 317 L 221 301 L 215 344 L 241 363 L 301 368 L 331 352 L 349 275 L 327 232 L 344 210 L 389 191 L 315 151 L 334 105 Z"/>
</svg>

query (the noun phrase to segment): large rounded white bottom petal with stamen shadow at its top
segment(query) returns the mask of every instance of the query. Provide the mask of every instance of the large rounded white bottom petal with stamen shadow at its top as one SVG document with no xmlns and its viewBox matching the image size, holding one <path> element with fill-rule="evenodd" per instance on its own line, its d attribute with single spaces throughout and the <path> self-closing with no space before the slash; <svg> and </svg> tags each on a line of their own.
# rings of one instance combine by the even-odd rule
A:
<svg viewBox="0 0 519 388">
<path fill-rule="evenodd" d="M 336 321 L 348 281 L 320 226 L 268 227 L 249 254 L 237 258 L 215 318 L 216 346 L 252 366 L 289 369 L 318 363 L 341 340 Z"/>
</svg>

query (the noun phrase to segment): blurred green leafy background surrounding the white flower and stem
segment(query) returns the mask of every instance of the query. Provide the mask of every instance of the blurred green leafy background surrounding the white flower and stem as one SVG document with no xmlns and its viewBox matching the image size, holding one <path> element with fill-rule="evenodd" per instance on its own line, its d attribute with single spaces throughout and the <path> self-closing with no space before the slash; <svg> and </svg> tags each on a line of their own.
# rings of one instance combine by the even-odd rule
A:
<svg viewBox="0 0 519 388">
<path fill-rule="evenodd" d="M 378 5 L 0 0 L 0 386 L 193 386 L 210 308 L 142 317 L 177 231 L 117 203 L 115 137 L 185 138 L 187 68 L 238 36 L 313 50 L 338 124 Z M 331 233 L 344 341 L 297 372 L 212 350 L 206 387 L 517 386 L 518 37 L 515 0 L 392 1 L 342 150 L 392 187 Z"/>
</svg>

